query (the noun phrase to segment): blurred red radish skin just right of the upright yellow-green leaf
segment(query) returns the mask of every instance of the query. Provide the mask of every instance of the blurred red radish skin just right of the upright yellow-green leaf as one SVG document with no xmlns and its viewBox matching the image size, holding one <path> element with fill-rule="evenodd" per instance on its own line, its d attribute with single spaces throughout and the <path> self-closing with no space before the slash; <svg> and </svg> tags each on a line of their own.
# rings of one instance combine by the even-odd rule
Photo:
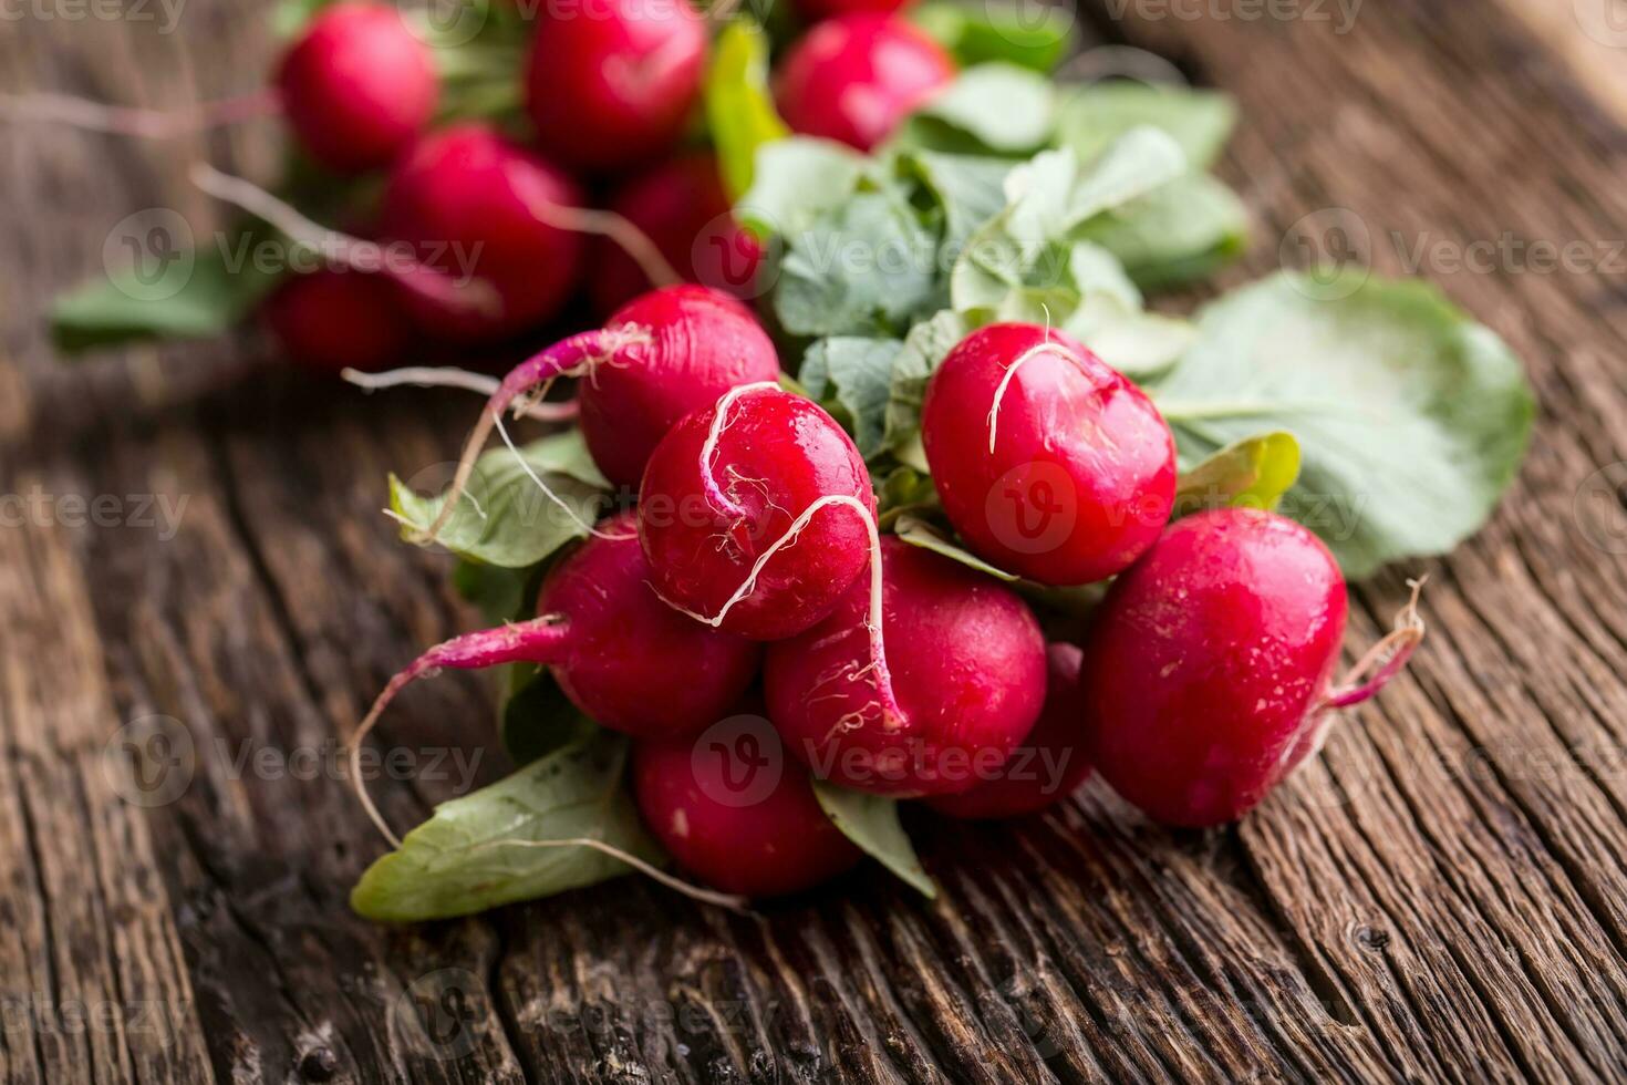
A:
<svg viewBox="0 0 1627 1085">
<path fill-rule="evenodd" d="M 791 46 L 774 99 L 794 132 L 869 151 L 953 78 L 944 47 L 905 20 L 843 15 Z"/>
</svg>

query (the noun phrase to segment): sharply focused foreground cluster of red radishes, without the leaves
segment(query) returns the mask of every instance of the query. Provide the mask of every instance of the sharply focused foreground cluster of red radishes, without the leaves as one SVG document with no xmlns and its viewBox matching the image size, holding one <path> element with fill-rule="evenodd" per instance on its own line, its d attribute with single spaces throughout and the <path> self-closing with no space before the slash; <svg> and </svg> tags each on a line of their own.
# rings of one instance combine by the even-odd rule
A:
<svg viewBox="0 0 1627 1085">
<path fill-rule="evenodd" d="M 428 651 L 361 734 L 426 672 L 547 667 L 581 712 L 633 737 L 646 826 L 727 893 L 805 890 L 857 862 L 814 781 L 989 818 L 1043 810 L 1095 768 L 1162 821 L 1233 820 L 1420 634 L 1409 610 L 1375 673 L 1336 682 L 1346 586 L 1328 548 L 1263 509 L 1171 524 L 1175 442 L 1157 407 L 1045 327 L 960 342 L 927 389 L 923 438 L 978 556 L 1043 586 L 1111 579 L 1077 644 L 1048 644 L 1007 584 L 879 530 L 853 439 L 776 382 L 771 342 L 734 299 L 657 290 L 527 359 L 464 464 L 561 376 L 581 377 L 586 444 L 605 477 L 641 480 L 636 503 L 552 568 L 535 618 Z M 1058 483 L 1053 512 L 1072 525 L 1040 550 L 1014 550 L 1002 519 L 1022 516 L 1025 473 Z M 744 805 L 696 745 L 737 712 L 765 716 L 784 753 L 776 787 Z"/>
</svg>

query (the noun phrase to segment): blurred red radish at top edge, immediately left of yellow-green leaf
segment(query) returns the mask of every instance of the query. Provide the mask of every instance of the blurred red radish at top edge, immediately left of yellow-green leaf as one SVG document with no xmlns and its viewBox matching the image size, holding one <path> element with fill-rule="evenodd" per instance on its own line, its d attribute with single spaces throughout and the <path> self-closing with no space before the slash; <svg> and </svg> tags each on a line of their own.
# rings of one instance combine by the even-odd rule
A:
<svg viewBox="0 0 1627 1085">
<path fill-rule="evenodd" d="M 687 0 L 584 0 L 537 20 L 526 109 L 537 145 L 610 171 L 670 150 L 700 98 L 706 23 Z"/>
</svg>

